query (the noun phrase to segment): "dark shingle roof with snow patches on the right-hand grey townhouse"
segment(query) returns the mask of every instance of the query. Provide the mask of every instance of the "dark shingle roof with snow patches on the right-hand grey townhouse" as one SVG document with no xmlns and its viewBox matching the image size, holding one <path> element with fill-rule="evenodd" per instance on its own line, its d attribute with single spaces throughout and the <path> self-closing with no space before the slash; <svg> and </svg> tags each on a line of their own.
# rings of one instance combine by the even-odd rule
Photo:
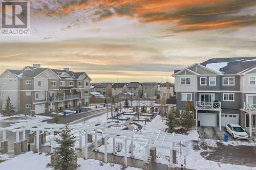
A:
<svg viewBox="0 0 256 170">
<path fill-rule="evenodd" d="M 212 58 L 201 65 L 214 69 L 223 75 L 233 75 L 256 66 L 256 57 Z"/>
</svg>

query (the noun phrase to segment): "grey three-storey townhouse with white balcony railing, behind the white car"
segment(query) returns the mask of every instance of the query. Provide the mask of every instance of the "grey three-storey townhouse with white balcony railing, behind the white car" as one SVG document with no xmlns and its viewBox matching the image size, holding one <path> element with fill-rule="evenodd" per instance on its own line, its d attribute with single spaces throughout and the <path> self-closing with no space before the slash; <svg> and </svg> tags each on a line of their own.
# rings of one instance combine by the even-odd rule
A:
<svg viewBox="0 0 256 170">
<path fill-rule="evenodd" d="M 186 100 L 201 126 L 240 124 L 255 131 L 256 57 L 215 58 L 175 70 L 177 113 Z"/>
</svg>

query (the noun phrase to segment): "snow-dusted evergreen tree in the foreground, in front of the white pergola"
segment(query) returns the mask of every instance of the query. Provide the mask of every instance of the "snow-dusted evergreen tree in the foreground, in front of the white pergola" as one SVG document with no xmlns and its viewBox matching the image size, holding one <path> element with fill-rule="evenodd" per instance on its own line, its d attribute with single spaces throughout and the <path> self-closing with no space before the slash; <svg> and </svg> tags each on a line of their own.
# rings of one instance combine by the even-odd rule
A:
<svg viewBox="0 0 256 170">
<path fill-rule="evenodd" d="M 56 154 L 56 164 L 54 169 L 59 170 L 75 170 L 77 168 L 77 162 L 75 162 L 75 136 L 70 134 L 71 129 L 66 124 L 66 127 L 62 129 L 60 133 L 61 139 L 56 139 L 56 142 L 59 144 L 55 148 L 54 153 Z"/>
</svg>

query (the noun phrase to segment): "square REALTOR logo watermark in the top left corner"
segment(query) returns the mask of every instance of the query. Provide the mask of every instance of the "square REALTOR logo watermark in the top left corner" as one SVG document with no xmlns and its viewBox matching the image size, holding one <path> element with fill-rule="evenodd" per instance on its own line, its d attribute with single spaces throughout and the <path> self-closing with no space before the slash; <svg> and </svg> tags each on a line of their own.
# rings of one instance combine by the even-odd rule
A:
<svg viewBox="0 0 256 170">
<path fill-rule="evenodd" d="M 30 35 L 30 1 L 0 0 L 2 36 Z"/>
</svg>

